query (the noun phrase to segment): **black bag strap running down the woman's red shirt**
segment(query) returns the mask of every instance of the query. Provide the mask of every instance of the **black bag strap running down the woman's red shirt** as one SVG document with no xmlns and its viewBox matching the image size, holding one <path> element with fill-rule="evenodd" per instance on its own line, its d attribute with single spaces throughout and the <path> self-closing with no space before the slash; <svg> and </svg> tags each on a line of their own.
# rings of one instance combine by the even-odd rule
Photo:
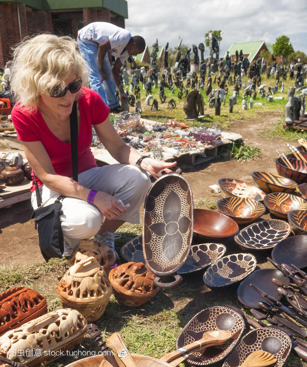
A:
<svg viewBox="0 0 307 367">
<path fill-rule="evenodd" d="M 72 105 L 72 111 L 69 115 L 70 122 L 70 144 L 71 144 L 71 167 L 72 167 L 72 179 L 78 182 L 78 116 L 77 116 L 77 102 Z M 36 175 L 34 174 L 34 185 L 36 193 L 36 203 L 40 207 L 42 200 L 40 199 L 39 187 L 36 181 Z M 64 196 L 59 196 L 57 201 L 63 199 Z"/>
</svg>

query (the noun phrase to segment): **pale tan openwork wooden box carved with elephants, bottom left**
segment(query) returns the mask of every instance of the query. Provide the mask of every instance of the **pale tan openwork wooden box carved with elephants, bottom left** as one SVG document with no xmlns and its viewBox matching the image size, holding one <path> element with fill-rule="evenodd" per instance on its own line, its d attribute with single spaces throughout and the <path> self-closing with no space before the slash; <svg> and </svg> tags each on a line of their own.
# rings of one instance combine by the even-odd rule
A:
<svg viewBox="0 0 307 367">
<path fill-rule="evenodd" d="M 0 337 L 0 352 L 14 362 L 39 366 L 72 350 L 86 333 L 86 320 L 76 310 L 59 309 L 37 317 Z"/>
</svg>

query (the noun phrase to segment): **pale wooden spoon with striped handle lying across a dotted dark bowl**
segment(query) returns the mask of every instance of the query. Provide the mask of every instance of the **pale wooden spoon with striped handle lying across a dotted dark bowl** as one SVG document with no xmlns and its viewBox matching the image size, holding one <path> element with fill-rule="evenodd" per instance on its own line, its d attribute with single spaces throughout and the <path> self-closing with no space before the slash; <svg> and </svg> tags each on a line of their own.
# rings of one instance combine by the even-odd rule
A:
<svg viewBox="0 0 307 367">
<path fill-rule="evenodd" d="M 178 364 L 186 360 L 190 354 L 196 353 L 200 349 L 207 348 L 208 346 L 221 345 L 230 337 L 231 333 L 226 330 L 206 331 L 201 339 L 174 350 L 174 352 L 165 354 L 160 360 L 168 362 L 171 366 L 178 366 Z"/>
</svg>

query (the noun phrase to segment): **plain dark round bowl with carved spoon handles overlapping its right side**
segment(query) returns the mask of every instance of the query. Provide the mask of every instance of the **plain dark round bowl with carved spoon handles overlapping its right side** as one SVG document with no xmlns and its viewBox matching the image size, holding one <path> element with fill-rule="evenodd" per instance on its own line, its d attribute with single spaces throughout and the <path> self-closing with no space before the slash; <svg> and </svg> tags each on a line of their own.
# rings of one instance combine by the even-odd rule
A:
<svg viewBox="0 0 307 367">
<path fill-rule="evenodd" d="M 279 301 L 282 296 L 277 292 L 276 285 L 271 282 L 272 278 L 282 281 L 283 284 L 290 284 L 290 279 L 277 269 L 255 270 L 239 284 L 237 291 L 239 301 L 249 308 L 258 308 L 258 302 L 263 302 L 261 295 L 250 287 L 251 283 Z"/>
</svg>

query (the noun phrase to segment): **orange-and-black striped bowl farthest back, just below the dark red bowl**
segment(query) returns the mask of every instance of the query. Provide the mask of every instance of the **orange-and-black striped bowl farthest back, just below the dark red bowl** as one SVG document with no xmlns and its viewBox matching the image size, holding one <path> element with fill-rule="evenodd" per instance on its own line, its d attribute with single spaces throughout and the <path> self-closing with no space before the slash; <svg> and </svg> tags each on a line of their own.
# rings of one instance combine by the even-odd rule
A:
<svg viewBox="0 0 307 367">
<path fill-rule="evenodd" d="M 264 192 L 286 192 L 293 194 L 297 183 L 289 178 L 276 175 L 271 172 L 256 172 L 250 173 L 254 181 L 263 189 Z"/>
</svg>

